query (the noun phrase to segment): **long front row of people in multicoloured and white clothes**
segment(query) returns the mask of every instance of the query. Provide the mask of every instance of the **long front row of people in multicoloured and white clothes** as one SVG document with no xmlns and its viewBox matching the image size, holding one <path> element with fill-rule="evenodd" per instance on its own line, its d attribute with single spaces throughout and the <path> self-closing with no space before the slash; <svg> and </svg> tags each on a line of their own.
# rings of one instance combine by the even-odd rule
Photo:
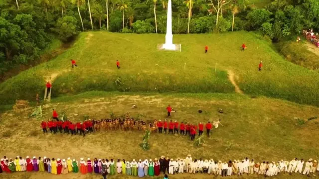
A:
<svg viewBox="0 0 319 179">
<path fill-rule="evenodd" d="M 33 157 L 30 159 L 28 156 L 24 160 L 22 157 L 16 156 L 14 160 L 8 159 L 5 156 L 1 159 L 0 173 L 13 173 L 13 172 L 48 172 L 51 174 L 67 174 L 67 173 L 78 173 L 85 175 L 88 173 L 102 174 L 106 175 L 129 175 L 129 176 L 159 176 L 160 172 L 164 175 L 168 174 L 178 174 L 178 173 L 204 173 L 209 175 L 221 175 L 223 177 L 231 175 L 243 175 L 243 174 L 257 174 L 265 176 L 277 176 L 279 173 L 282 174 L 292 174 L 300 173 L 303 175 L 310 175 L 311 173 L 316 173 L 319 171 L 319 165 L 316 160 L 309 159 L 305 164 L 304 160 L 298 160 L 297 158 L 291 161 L 281 160 L 279 162 L 262 162 L 255 163 L 255 161 L 249 160 L 248 158 L 244 160 L 234 160 L 229 162 L 202 160 L 193 160 L 191 155 L 187 155 L 185 159 L 177 158 L 175 160 L 169 159 L 168 157 L 161 156 L 160 160 L 157 158 L 150 160 L 141 159 L 139 162 L 133 159 L 132 162 L 121 161 L 120 159 L 115 162 L 113 159 L 110 161 L 108 159 L 97 159 L 93 161 L 88 158 L 84 160 L 80 159 L 80 162 L 75 159 L 67 158 L 63 159 L 49 159 L 47 157 Z M 304 170 L 303 170 L 304 169 Z"/>
</svg>

